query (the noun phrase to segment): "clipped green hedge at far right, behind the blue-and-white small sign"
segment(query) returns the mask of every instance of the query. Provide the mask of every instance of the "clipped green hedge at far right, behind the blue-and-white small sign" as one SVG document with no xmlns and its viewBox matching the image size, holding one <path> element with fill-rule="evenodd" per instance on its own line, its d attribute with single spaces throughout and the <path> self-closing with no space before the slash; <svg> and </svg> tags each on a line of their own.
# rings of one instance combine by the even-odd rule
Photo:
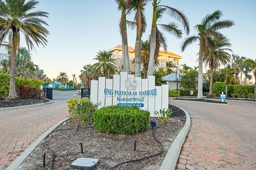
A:
<svg viewBox="0 0 256 170">
<path fill-rule="evenodd" d="M 254 85 L 228 85 L 228 97 L 232 98 L 253 98 L 254 97 Z M 222 92 L 225 94 L 226 85 L 225 82 L 215 82 L 212 86 L 212 92 L 216 96 L 220 96 Z"/>
</svg>

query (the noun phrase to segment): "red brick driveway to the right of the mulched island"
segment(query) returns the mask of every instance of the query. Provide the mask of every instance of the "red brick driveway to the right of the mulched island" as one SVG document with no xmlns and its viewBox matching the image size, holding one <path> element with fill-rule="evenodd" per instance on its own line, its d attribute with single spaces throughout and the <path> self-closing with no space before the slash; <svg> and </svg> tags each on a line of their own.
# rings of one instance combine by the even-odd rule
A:
<svg viewBox="0 0 256 170">
<path fill-rule="evenodd" d="M 178 170 L 256 169 L 256 103 L 228 102 L 222 106 L 170 100 L 191 117 Z"/>
</svg>

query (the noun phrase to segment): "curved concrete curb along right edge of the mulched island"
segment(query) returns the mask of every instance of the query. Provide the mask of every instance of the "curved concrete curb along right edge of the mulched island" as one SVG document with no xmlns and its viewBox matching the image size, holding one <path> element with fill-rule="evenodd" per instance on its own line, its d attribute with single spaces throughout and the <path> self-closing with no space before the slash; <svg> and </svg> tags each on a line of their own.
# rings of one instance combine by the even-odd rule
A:
<svg viewBox="0 0 256 170">
<path fill-rule="evenodd" d="M 178 107 L 178 108 L 182 109 L 181 107 Z M 174 141 L 172 142 L 172 145 L 170 146 L 168 152 L 166 153 L 164 161 L 162 162 L 160 170 L 175 170 L 177 160 L 180 156 L 181 147 L 186 140 L 186 136 L 188 135 L 188 132 L 190 131 L 190 127 L 191 127 L 190 116 L 186 110 L 184 109 L 182 110 L 186 113 L 185 125 L 180 130 L 180 133 L 176 136 Z"/>
</svg>

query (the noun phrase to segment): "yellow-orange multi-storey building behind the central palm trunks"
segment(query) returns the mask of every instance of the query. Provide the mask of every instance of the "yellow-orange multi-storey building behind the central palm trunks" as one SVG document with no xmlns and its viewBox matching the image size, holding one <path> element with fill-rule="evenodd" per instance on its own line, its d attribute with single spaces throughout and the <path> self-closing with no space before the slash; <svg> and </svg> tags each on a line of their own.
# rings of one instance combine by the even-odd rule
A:
<svg viewBox="0 0 256 170">
<path fill-rule="evenodd" d="M 132 60 L 135 57 L 135 46 L 132 47 L 128 47 L 128 55 L 129 55 L 129 61 L 130 61 L 130 71 L 134 72 L 135 67 L 134 64 L 132 64 Z M 112 49 L 108 50 L 108 52 L 112 53 L 111 58 L 112 59 L 116 59 L 116 68 L 121 68 L 122 64 L 123 64 L 123 60 L 122 60 L 122 45 L 118 45 L 116 47 L 113 47 Z M 180 59 L 182 59 L 181 56 L 176 55 L 172 52 L 168 52 L 168 51 L 159 51 L 158 54 L 158 60 L 159 60 L 159 67 L 165 67 L 166 66 L 166 62 L 168 61 L 172 61 L 172 63 L 176 66 L 175 69 L 179 70 L 179 61 Z M 157 69 L 157 68 L 156 68 Z M 174 69 L 174 70 L 175 70 Z"/>
</svg>

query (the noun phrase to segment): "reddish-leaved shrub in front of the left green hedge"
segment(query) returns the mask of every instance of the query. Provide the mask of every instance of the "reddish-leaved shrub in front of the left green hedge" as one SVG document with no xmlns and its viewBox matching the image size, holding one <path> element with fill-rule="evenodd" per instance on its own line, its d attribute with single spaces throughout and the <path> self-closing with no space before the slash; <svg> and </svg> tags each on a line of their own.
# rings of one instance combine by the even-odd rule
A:
<svg viewBox="0 0 256 170">
<path fill-rule="evenodd" d="M 17 95 L 20 98 L 40 98 L 40 90 L 38 88 L 31 88 L 20 86 L 17 90 Z"/>
</svg>

